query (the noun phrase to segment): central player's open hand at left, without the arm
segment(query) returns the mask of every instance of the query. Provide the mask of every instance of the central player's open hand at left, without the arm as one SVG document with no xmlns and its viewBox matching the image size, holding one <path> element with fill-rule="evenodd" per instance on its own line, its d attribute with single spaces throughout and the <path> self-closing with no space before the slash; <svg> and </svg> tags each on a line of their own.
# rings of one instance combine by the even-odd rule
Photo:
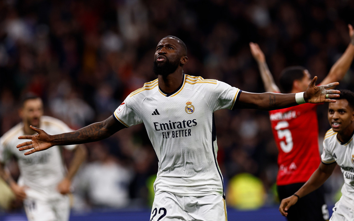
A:
<svg viewBox="0 0 354 221">
<path fill-rule="evenodd" d="M 18 150 L 20 150 L 20 151 L 32 149 L 28 152 L 25 152 L 24 155 L 29 155 L 29 154 L 37 152 L 37 151 L 46 150 L 46 149 L 53 146 L 50 142 L 50 135 L 47 134 L 44 130 L 41 130 L 41 129 L 33 127 L 33 126 L 29 126 L 29 127 L 32 130 L 34 130 L 35 132 L 37 132 L 38 134 L 24 135 L 24 136 L 18 137 L 18 139 L 31 140 L 31 141 L 26 141 L 26 142 L 16 146 L 18 148 Z"/>
</svg>

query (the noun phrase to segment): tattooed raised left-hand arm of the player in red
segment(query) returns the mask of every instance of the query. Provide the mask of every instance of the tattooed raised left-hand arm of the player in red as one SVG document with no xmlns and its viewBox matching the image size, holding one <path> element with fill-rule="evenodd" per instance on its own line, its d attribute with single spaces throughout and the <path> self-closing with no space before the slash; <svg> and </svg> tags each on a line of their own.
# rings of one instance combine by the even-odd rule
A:
<svg viewBox="0 0 354 221">
<path fill-rule="evenodd" d="M 263 86 L 266 92 L 280 92 L 278 86 L 274 82 L 272 73 L 270 72 L 267 62 L 265 62 L 265 56 L 261 48 L 257 43 L 250 42 L 250 49 L 253 58 L 255 58 L 259 72 L 261 72 L 261 77 L 263 81 Z M 330 82 L 329 82 L 330 83 Z"/>
</svg>

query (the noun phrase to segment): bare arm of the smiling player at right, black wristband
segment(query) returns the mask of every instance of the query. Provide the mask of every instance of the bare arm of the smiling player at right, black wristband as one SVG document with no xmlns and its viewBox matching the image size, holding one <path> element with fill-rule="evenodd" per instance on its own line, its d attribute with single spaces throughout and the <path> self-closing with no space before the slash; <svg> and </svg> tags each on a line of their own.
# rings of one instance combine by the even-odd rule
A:
<svg viewBox="0 0 354 221">
<path fill-rule="evenodd" d="M 337 163 L 324 164 L 320 163 L 319 167 L 313 172 L 309 180 L 294 194 L 288 198 L 281 200 L 279 211 L 281 215 L 287 216 L 287 211 L 301 197 L 306 196 L 310 192 L 319 188 L 330 177 Z"/>
</svg>

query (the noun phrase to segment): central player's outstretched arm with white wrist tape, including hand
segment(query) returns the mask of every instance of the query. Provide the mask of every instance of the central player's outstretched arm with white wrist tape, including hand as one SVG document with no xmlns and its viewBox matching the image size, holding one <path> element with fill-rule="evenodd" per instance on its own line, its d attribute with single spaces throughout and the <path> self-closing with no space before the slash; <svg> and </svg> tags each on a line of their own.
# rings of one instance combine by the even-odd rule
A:
<svg viewBox="0 0 354 221">
<path fill-rule="evenodd" d="M 258 110 L 276 110 L 291 107 L 303 103 L 336 102 L 334 98 L 339 97 L 340 91 L 327 90 L 327 88 L 339 85 L 338 82 L 327 85 L 315 86 L 315 76 L 307 87 L 306 92 L 280 94 L 280 93 L 249 93 L 242 91 L 235 108 L 250 108 Z"/>
</svg>

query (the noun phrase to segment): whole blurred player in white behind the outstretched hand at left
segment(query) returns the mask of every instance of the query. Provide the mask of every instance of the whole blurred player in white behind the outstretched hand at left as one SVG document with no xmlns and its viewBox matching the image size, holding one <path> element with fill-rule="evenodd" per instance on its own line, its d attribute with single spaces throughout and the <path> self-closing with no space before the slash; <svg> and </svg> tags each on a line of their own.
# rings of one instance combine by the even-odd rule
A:
<svg viewBox="0 0 354 221">
<path fill-rule="evenodd" d="M 43 104 L 39 97 L 29 95 L 24 98 L 19 111 L 22 122 L 11 128 L 0 138 L 0 175 L 15 196 L 23 200 L 24 209 L 30 221 L 67 221 L 69 219 L 71 180 L 86 156 L 83 145 L 63 146 L 74 150 L 70 168 L 66 171 L 61 147 L 53 146 L 48 151 L 30 157 L 16 149 L 18 136 L 34 134 L 30 125 L 40 126 L 48 133 L 73 131 L 64 122 L 43 115 Z M 4 165 L 10 157 L 17 159 L 20 177 L 17 183 Z"/>
</svg>

